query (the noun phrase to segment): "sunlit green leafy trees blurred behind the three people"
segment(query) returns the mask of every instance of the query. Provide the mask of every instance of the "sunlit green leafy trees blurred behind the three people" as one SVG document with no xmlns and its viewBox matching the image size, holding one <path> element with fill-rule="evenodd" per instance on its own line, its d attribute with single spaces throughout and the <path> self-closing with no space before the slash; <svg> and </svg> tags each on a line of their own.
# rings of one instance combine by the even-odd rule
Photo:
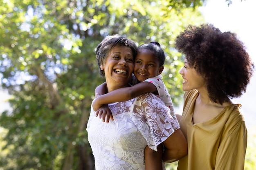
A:
<svg viewBox="0 0 256 170">
<path fill-rule="evenodd" d="M 182 56 L 173 48 L 187 24 L 202 23 L 204 0 L 1 0 L 0 71 L 11 111 L 0 115 L 4 170 L 92 170 L 86 124 L 99 77 L 95 48 L 120 34 L 157 41 L 174 104 L 182 101 Z"/>
</svg>

